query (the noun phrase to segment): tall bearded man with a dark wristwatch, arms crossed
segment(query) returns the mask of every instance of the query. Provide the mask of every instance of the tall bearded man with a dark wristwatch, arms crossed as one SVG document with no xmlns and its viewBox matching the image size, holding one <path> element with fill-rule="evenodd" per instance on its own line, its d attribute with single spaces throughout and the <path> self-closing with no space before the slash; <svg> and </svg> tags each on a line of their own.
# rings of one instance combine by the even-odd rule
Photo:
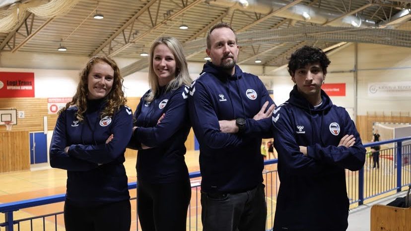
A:
<svg viewBox="0 0 411 231">
<path fill-rule="evenodd" d="M 237 36 L 227 23 L 207 34 L 211 62 L 190 89 L 200 144 L 204 231 L 265 231 L 262 138 L 272 136 L 274 102 L 263 82 L 236 65 Z"/>
</svg>

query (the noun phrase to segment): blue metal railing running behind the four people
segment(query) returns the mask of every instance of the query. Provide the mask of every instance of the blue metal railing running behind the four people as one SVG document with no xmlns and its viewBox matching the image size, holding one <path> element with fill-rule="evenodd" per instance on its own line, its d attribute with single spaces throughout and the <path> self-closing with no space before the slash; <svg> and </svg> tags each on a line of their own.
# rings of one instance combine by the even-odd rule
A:
<svg viewBox="0 0 411 231">
<path fill-rule="evenodd" d="M 367 158 L 364 168 L 357 172 L 346 171 L 347 174 L 347 194 L 350 204 L 358 203 L 362 205 L 364 200 L 379 196 L 381 194 L 391 191 L 401 191 L 403 186 L 411 183 L 411 145 L 402 145 L 403 141 L 411 140 L 410 137 L 401 139 L 379 141 L 374 143 L 364 144 L 364 147 L 371 147 L 375 145 L 383 145 L 389 143 L 395 143 L 394 148 L 388 148 L 380 150 L 380 170 L 374 170 L 371 168 L 371 159 Z M 274 221 L 274 211 L 276 195 L 278 192 L 278 176 L 276 171 L 277 160 L 265 161 L 266 169 L 263 173 L 264 181 L 266 184 L 266 198 L 267 198 L 267 229 L 271 229 Z M 200 172 L 190 173 L 190 178 L 201 177 Z M 199 219 L 199 212 L 201 212 L 201 205 L 199 205 L 198 197 L 200 195 L 200 184 L 192 185 L 192 190 L 195 190 L 195 194 L 192 196 L 192 203 L 188 211 L 189 230 L 201 230 L 201 219 Z M 129 190 L 136 189 L 137 182 L 129 183 Z M 135 200 L 136 197 L 131 198 Z M 51 213 L 47 215 L 41 215 L 25 219 L 13 219 L 14 212 L 22 209 L 32 208 L 35 206 L 48 205 L 65 200 L 65 194 L 59 194 L 54 196 L 41 197 L 30 200 L 23 200 L 11 203 L 0 204 L 0 212 L 4 213 L 4 222 L 0 224 L 0 231 L 14 231 L 14 226 L 17 230 L 20 230 L 20 224 L 30 221 L 30 230 L 33 230 L 33 220 L 42 219 L 43 230 L 46 230 L 46 218 L 54 217 L 54 219 L 48 219 L 55 227 L 57 231 L 57 216 L 63 212 Z M 195 206 L 193 207 L 193 203 Z M 192 211 L 193 210 L 193 211 Z M 136 220 L 136 230 L 138 230 L 138 219 Z M 192 227 L 193 226 L 193 227 Z M 4 228 L 5 227 L 5 228 Z M 23 229 L 27 230 L 27 229 Z"/>
</svg>

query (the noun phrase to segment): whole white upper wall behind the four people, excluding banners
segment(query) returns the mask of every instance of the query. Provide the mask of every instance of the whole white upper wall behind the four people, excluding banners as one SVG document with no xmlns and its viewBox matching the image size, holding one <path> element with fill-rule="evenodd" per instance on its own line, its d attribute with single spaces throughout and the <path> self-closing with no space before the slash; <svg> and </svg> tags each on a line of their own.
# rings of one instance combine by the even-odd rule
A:
<svg viewBox="0 0 411 231">
<path fill-rule="evenodd" d="M 354 114 L 366 115 L 369 111 L 410 112 L 411 94 L 402 97 L 370 98 L 369 82 L 411 81 L 411 48 L 372 44 L 358 45 L 358 93 L 354 91 L 354 46 L 346 47 L 330 55 L 331 64 L 326 83 L 345 83 L 345 97 L 331 97 L 334 104 L 352 109 Z M 114 58 L 120 67 L 136 61 L 131 58 Z M 35 97 L 71 97 L 77 86 L 78 73 L 88 57 L 49 55 L 36 53 L 0 54 L 0 71 L 34 72 Z M 189 72 L 193 79 L 203 69 L 201 62 L 190 62 Z M 286 68 L 272 71 L 260 65 L 240 65 L 243 71 L 259 75 L 268 89 L 274 91 L 277 105 L 286 101 L 293 83 Z M 351 72 L 350 72 L 351 71 Z M 147 70 L 125 76 L 126 95 L 140 97 L 148 90 Z M 355 100 L 357 98 L 357 107 Z"/>
</svg>

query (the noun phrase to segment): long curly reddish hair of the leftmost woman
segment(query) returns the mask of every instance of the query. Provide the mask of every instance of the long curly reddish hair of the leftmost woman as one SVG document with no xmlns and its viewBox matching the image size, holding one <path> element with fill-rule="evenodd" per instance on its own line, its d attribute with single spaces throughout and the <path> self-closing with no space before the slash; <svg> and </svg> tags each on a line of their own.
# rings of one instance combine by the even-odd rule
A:
<svg viewBox="0 0 411 231">
<path fill-rule="evenodd" d="M 77 107 L 76 117 L 81 122 L 84 120 L 84 113 L 87 110 L 87 94 L 88 94 L 88 74 L 90 73 L 91 67 L 97 62 L 105 62 L 109 64 L 114 70 L 113 86 L 110 93 L 105 97 L 106 107 L 101 112 L 101 118 L 105 116 L 113 116 L 114 113 L 120 109 L 121 106 L 126 105 L 127 99 L 124 97 L 123 92 L 123 76 L 120 74 L 120 69 L 117 63 L 108 57 L 95 56 L 88 60 L 86 66 L 80 73 L 80 81 L 77 85 L 77 90 L 72 98 L 72 100 L 66 104 L 59 113 L 68 109 L 70 106 Z"/>
</svg>

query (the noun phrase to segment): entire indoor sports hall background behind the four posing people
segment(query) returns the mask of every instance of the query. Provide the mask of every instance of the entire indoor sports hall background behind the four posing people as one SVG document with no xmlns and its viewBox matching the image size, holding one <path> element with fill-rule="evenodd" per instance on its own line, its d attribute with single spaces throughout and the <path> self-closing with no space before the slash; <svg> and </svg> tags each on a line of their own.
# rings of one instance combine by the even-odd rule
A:
<svg viewBox="0 0 411 231">
<path fill-rule="evenodd" d="M 49 148 L 58 112 L 71 101 L 89 58 L 117 62 L 127 106 L 135 112 L 150 88 L 155 39 L 181 42 L 195 80 L 210 60 L 207 31 L 219 22 L 237 34 L 237 64 L 259 76 L 277 106 L 294 85 L 287 58 L 304 45 L 327 54 L 331 64 L 322 89 L 345 108 L 367 150 L 363 169 L 345 170 L 347 230 L 411 231 L 411 209 L 399 210 L 401 216 L 372 209 L 404 197 L 411 184 L 410 0 L 0 0 L 0 231 L 65 230 L 67 171 L 50 167 Z M 186 230 L 201 231 L 200 151 L 193 129 L 185 146 L 192 195 Z M 141 230 L 137 155 L 127 149 L 124 163 L 132 231 Z M 262 172 L 266 230 L 273 228 L 280 185 L 276 157 L 274 150 L 265 158 Z"/>
</svg>

